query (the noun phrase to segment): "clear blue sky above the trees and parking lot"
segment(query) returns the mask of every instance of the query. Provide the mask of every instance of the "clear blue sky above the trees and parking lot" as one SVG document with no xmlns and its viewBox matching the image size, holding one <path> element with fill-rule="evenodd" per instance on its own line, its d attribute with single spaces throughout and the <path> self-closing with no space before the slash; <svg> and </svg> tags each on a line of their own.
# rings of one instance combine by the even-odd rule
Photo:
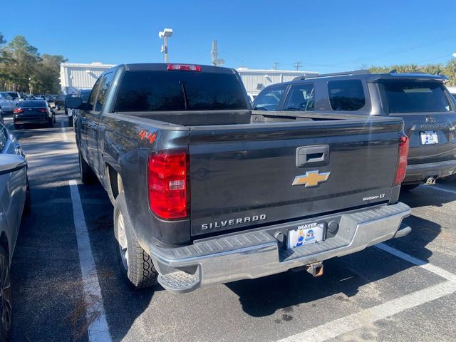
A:
<svg viewBox="0 0 456 342">
<path fill-rule="evenodd" d="M 0 32 L 73 63 L 170 61 L 331 72 L 363 65 L 437 63 L 456 52 L 456 1 L 2 1 Z M 435 6 L 435 7 L 433 7 Z"/>
</svg>

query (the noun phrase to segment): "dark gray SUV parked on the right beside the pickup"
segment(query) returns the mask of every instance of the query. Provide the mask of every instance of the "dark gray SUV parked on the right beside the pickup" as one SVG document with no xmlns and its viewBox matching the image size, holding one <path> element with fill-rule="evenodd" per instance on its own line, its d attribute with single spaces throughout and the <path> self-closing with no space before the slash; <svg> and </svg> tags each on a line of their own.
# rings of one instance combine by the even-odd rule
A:
<svg viewBox="0 0 456 342">
<path fill-rule="evenodd" d="M 445 88 L 446 80 L 445 76 L 369 71 L 302 76 L 264 88 L 253 108 L 274 111 L 274 115 L 281 112 L 290 120 L 309 120 L 296 118 L 296 111 L 314 112 L 320 120 L 338 113 L 403 118 L 410 138 L 403 188 L 410 190 L 456 172 L 456 101 Z"/>
</svg>

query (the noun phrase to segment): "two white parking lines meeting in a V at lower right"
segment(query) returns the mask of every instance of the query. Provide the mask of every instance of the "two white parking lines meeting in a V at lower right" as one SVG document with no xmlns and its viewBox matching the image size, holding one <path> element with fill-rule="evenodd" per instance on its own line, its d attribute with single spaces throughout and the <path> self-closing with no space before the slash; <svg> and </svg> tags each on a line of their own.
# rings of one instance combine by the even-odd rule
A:
<svg viewBox="0 0 456 342">
<path fill-rule="evenodd" d="M 445 271 L 445 269 L 441 269 L 440 267 L 412 257 L 404 252 L 400 252 L 398 249 L 390 247 L 387 244 L 376 244 L 375 247 L 383 250 L 384 252 L 393 254 L 395 257 L 408 261 L 411 264 L 420 266 L 427 271 L 437 274 L 438 276 L 447 279 L 447 281 L 430 286 L 427 289 L 415 291 L 411 294 L 387 301 L 384 304 L 364 309 L 356 314 L 322 324 L 321 326 L 311 328 L 302 333 L 297 333 L 296 335 L 284 338 L 279 342 L 328 341 L 331 338 L 341 336 L 343 333 L 349 333 L 356 329 L 363 328 L 366 324 L 374 323 L 380 319 L 399 314 L 407 309 L 412 309 L 415 306 L 420 306 L 429 301 L 434 301 L 435 299 L 439 299 L 443 296 L 454 294 L 456 292 L 456 274 Z"/>
</svg>

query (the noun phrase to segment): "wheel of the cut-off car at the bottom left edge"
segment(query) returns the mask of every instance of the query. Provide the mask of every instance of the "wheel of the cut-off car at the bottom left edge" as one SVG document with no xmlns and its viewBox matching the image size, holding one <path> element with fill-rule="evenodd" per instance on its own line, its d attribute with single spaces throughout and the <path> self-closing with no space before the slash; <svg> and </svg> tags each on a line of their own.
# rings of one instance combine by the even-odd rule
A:
<svg viewBox="0 0 456 342">
<path fill-rule="evenodd" d="M 11 276 L 9 256 L 0 246 L 0 341 L 11 339 Z"/>
</svg>

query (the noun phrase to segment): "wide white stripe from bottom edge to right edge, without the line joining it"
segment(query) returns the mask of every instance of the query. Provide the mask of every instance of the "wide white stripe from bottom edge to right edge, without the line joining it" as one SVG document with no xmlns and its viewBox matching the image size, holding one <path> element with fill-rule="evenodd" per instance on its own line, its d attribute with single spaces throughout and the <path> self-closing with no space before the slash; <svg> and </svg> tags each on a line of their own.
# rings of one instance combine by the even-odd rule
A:
<svg viewBox="0 0 456 342">
<path fill-rule="evenodd" d="M 336 319 L 316 328 L 312 328 L 303 333 L 298 333 L 294 336 L 284 338 L 279 342 L 323 342 L 331 338 L 341 336 L 343 333 L 349 333 L 359 328 L 363 328 L 366 324 L 374 323 L 380 319 L 399 314 L 407 309 L 415 308 L 443 296 L 454 294 L 456 291 L 456 283 L 454 281 L 444 281 L 440 284 L 430 286 L 427 289 L 415 291 L 412 294 L 387 301 L 384 304 L 373 306 L 346 316 Z"/>
</svg>

